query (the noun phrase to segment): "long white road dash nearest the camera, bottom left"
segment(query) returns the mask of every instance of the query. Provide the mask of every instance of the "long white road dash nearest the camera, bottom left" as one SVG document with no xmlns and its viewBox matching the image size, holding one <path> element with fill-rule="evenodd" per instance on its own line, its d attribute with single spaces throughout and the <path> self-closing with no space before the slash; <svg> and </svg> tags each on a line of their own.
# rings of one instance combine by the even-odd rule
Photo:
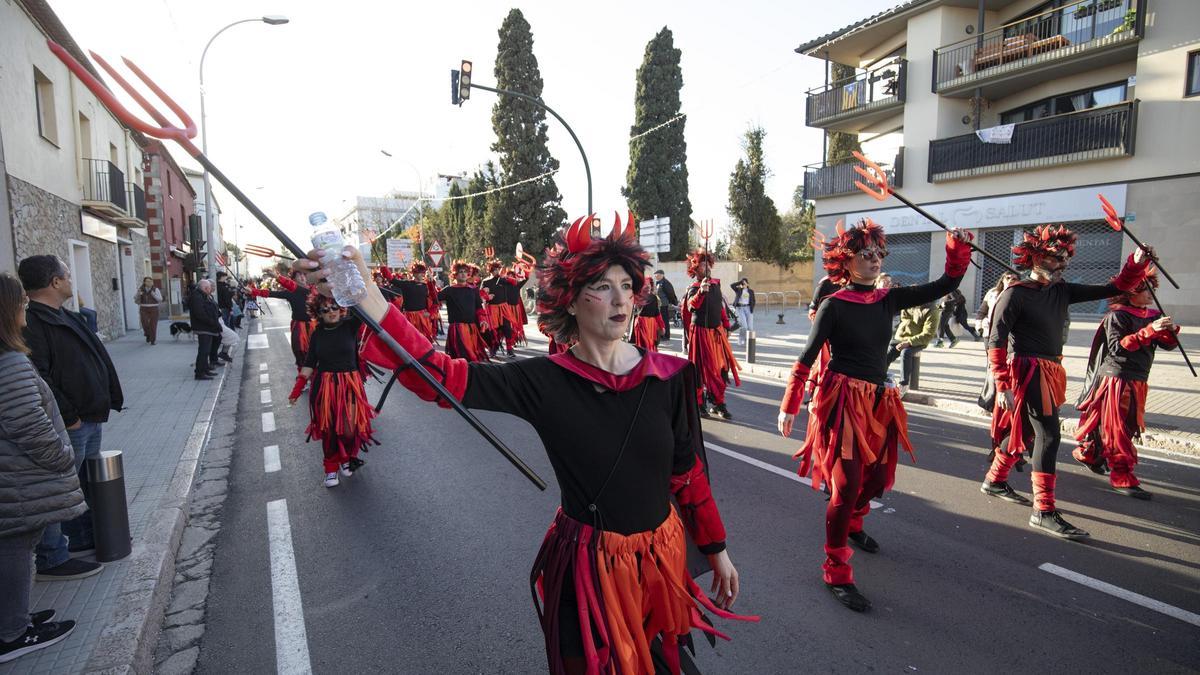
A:
<svg viewBox="0 0 1200 675">
<path fill-rule="evenodd" d="M 292 550 L 287 500 L 266 502 L 266 537 L 271 550 L 271 604 L 275 610 L 275 670 L 288 675 L 312 673 L 304 603 Z"/>
</svg>

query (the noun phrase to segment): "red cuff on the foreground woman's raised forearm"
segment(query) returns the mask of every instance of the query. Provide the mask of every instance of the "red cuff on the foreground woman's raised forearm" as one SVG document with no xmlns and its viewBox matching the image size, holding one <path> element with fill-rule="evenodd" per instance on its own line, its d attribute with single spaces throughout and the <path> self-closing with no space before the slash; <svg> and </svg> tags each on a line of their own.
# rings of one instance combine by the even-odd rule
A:
<svg viewBox="0 0 1200 675">
<path fill-rule="evenodd" d="M 468 364 L 464 359 L 452 359 L 445 353 L 434 350 L 433 345 L 413 328 L 413 324 L 408 323 L 404 315 L 395 306 L 388 307 L 388 313 L 384 315 L 379 324 L 388 335 L 395 338 L 413 358 L 419 360 L 434 378 L 440 381 L 454 398 L 462 400 L 463 394 L 467 393 Z M 437 390 L 418 375 L 415 370 L 403 366 L 400 357 L 378 335 L 372 334 L 367 339 L 360 356 L 388 370 L 400 369 L 396 381 L 403 384 L 406 389 L 413 392 L 425 401 L 437 401 L 442 407 L 450 407 L 449 402 L 438 399 Z"/>
</svg>

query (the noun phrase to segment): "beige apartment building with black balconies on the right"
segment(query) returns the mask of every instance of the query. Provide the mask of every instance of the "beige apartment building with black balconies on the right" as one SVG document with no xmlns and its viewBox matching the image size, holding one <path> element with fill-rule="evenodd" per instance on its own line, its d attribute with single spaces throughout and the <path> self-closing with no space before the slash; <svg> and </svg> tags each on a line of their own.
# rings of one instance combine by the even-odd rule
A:
<svg viewBox="0 0 1200 675">
<path fill-rule="evenodd" d="M 1067 225 L 1079 234 L 1072 281 L 1103 282 L 1133 251 L 1105 223 L 1103 193 L 1180 282 L 1164 281 L 1164 305 L 1200 321 L 1198 25 L 1190 0 L 905 2 L 797 48 L 854 68 L 809 91 L 805 124 L 857 133 L 907 198 L 1002 258 L 1024 231 Z M 894 276 L 936 277 L 941 231 L 859 192 L 856 163 L 805 167 L 817 228 L 870 217 L 888 233 Z M 962 283 L 972 304 L 1000 276 L 980 262 Z"/>
</svg>

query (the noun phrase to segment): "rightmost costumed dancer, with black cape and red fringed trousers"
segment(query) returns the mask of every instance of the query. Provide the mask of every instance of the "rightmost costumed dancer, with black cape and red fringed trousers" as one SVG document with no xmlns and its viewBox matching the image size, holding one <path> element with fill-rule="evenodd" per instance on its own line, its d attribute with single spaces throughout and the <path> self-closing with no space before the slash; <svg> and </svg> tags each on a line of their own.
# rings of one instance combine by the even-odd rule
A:
<svg viewBox="0 0 1200 675">
<path fill-rule="evenodd" d="M 1158 275 L 1150 271 L 1136 288 L 1109 299 L 1075 404 L 1079 447 L 1072 453 L 1093 472 L 1108 471 L 1115 491 L 1139 500 L 1151 496 L 1133 474 L 1138 464 L 1133 440 L 1146 430 L 1146 381 L 1154 350 L 1180 345 L 1180 327 L 1151 307 L 1153 288 L 1158 288 Z"/>
</svg>

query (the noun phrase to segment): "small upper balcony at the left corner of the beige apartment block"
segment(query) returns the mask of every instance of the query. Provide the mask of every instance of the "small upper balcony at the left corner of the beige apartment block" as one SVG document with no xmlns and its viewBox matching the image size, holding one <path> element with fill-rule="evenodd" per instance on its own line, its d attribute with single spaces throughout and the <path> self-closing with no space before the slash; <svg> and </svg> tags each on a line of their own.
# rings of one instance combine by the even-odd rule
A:
<svg viewBox="0 0 1200 675">
<path fill-rule="evenodd" d="M 856 74 L 808 91 L 804 124 L 858 133 L 904 109 L 908 62 L 889 59 Z"/>
</svg>

